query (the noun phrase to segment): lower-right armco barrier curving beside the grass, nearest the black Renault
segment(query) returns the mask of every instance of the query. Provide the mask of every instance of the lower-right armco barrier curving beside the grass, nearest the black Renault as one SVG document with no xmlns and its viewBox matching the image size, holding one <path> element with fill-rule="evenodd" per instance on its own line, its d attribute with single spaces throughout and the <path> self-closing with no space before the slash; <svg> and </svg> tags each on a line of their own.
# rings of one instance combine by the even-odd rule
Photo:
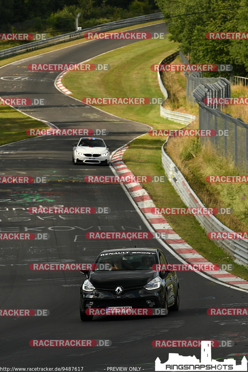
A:
<svg viewBox="0 0 248 372">
<path fill-rule="evenodd" d="M 169 138 L 169 137 L 168 137 Z M 167 138 L 167 141 L 168 141 Z M 166 142 L 167 142 L 166 141 Z M 165 142 L 165 143 L 166 143 Z M 187 207 L 204 207 L 198 196 L 190 188 L 183 174 L 177 168 L 171 158 L 165 153 L 164 145 L 162 145 L 162 165 L 168 180 L 173 185 L 182 201 Z M 207 231 L 226 231 L 233 232 L 231 229 L 223 225 L 214 215 L 195 215 L 200 225 Z M 247 239 L 222 239 L 213 240 L 218 247 L 222 247 L 234 259 L 236 263 L 244 266 L 248 265 L 248 240 Z"/>
</svg>

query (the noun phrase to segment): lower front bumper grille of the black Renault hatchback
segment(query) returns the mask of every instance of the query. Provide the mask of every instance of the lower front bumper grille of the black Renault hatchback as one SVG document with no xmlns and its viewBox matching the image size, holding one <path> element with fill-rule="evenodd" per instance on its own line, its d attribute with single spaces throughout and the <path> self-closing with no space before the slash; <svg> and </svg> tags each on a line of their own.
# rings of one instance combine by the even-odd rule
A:
<svg viewBox="0 0 248 372">
<path fill-rule="evenodd" d="M 132 306 L 135 309 L 139 309 L 139 308 L 148 309 L 149 305 L 146 304 L 147 300 L 150 300 L 151 302 L 155 302 L 155 305 L 153 306 L 154 308 L 158 307 L 158 301 L 155 298 L 128 298 L 128 299 L 120 298 L 120 299 L 109 299 L 109 300 L 105 300 L 105 299 L 86 300 L 86 301 L 84 301 L 84 308 L 87 309 L 86 305 L 88 305 L 89 302 L 93 302 L 93 305 L 91 305 L 91 308 L 94 308 L 94 309 L 106 308 L 106 307 L 109 307 L 109 306 L 117 306 L 117 307 L 119 307 L 119 306 Z"/>
</svg>

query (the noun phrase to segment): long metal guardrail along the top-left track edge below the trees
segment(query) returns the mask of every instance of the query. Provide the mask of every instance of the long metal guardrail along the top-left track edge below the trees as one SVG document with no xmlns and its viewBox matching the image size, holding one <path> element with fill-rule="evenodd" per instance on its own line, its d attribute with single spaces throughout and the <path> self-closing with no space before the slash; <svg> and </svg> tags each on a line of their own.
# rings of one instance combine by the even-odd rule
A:
<svg viewBox="0 0 248 372">
<path fill-rule="evenodd" d="M 78 38 L 82 38 L 85 32 L 101 32 L 109 31 L 115 28 L 122 28 L 125 26 L 136 25 L 137 23 L 148 22 L 153 20 L 158 20 L 164 18 L 162 12 L 152 13 L 145 16 L 132 17 L 127 19 L 122 19 L 119 21 L 104 23 L 102 25 L 97 25 L 94 27 L 84 28 L 80 31 L 73 31 L 70 33 L 65 33 L 63 35 L 53 36 L 45 40 L 34 41 L 28 44 L 18 45 L 17 47 L 8 48 L 0 51 L 0 58 L 9 57 L 10 55 L 15 55 L 27 51 L 32 51 L 39 48 L 44 48 L 49 45 L 59 44 L 63 41 L 70 41 Z"/>
</svg>

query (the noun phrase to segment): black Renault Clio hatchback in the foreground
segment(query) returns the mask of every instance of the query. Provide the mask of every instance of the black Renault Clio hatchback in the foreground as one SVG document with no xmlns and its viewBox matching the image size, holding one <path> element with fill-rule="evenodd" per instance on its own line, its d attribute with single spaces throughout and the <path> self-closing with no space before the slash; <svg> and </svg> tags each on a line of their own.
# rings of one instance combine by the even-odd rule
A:
<svg viewBox="0 0 248 372">
<path fill-rule="evenodd" d="M 81 270 L 86 280 L 80 287 L 80 318 L 93 319 L 87 309 L 179 308 L 179 283 L 175 271 L 155 271 L 155 264 L 168 264 L 158 248 L 104 250 L 94 270 Z"/>
</svg>

